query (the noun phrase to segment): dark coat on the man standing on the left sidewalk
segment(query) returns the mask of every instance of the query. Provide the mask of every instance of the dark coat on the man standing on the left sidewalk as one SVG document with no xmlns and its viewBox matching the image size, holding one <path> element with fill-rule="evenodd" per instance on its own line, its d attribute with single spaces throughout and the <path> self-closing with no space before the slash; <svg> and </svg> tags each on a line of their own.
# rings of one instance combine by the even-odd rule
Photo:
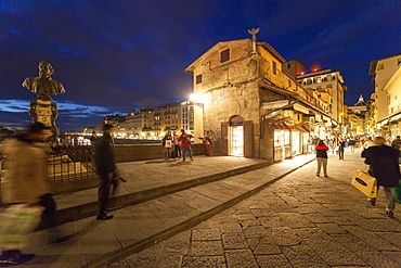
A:
<svg viewBox="0 0 401 268">
<path fill-rule="evenodd" d="M 94 145 L 94 164 L 98 175 L 104 176 L 109 173 L 115 173 L 116 162 L 114 156 L 112 136 L 104 133 L 98 139 Z"/>
</svg>

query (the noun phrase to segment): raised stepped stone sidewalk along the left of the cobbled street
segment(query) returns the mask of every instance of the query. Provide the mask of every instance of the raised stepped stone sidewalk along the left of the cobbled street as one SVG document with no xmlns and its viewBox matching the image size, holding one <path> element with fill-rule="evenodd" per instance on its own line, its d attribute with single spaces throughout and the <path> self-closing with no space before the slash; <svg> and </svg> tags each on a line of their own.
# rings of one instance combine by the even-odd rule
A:
<svg viewBox="0 0 401 268">
<path fill-rule="evenodd" d="M 114 210 L 112 220 L 95 220 L 91 216 L 35 232 L 24 252 L 37 256 L 20 267 L 104 267 L 121 256 L 200 224 L 313 158 L 313 155 L 300 155 L 269 163 L 243 157 L 198 156 L 194 162 L 185 163 L 119 164 L 129 182 L 121 184 L 120 192 L 113 199 L 114 205 L 118 205 L 120 200 L 126 202 L 138 195 L 152 195 L 160 189 L 166 194 L 160 193 L 148 201 L 142 199 L 140 203 L 135 200 L 135 205 Z M 95 202 L 96 189 L 55 199 L 59 216 L 73 210 L 79 218 L 80 209 Z M 82 209 L 82 214 L 86 213 Z M 48 242 L 55 238 L 62 238 L 62 241 Z"/>
</svg>

